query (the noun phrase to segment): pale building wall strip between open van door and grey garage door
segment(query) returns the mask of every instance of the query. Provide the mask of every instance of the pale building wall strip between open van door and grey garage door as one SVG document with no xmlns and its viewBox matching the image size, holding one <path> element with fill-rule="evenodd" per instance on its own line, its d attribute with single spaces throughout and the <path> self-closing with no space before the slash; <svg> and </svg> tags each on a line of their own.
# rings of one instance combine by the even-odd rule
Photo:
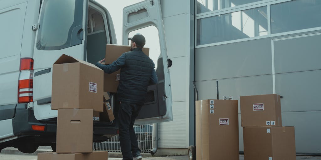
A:
<svg viewBox="0 0 321 160">
<path fill-rule="evenodd" d="M 159 124 L 159 148 L 188 148 L 189 104 L 194 103 L 194 1 L 162 0 L 161 8 L 169 59 L 173 100 L 173 121 Z M 194 123 L 192 123 L 194 125 Z M 194 126 L 193 126 L 194 128 Z M 194 133 L 194 130 L 193 132 Z M 194 139 L 193 139 L 194 140 Z"/>
</svg>

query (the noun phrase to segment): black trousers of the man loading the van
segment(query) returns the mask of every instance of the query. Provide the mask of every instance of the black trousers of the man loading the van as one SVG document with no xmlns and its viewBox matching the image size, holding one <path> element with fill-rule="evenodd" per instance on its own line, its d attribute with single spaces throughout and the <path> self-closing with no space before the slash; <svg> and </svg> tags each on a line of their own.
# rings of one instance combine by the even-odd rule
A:
<svg viewBox="0 0 321 160">
<path fill-rule="evenodd" d="M 133 125 L 141 109 L 141 105 L 125 102 L 120 103 L 118 111 L 118 128 L 123 160 L 132 160 L 133 157 L 140 156 L 141 150 L 138 148 Z"/>
</svg>

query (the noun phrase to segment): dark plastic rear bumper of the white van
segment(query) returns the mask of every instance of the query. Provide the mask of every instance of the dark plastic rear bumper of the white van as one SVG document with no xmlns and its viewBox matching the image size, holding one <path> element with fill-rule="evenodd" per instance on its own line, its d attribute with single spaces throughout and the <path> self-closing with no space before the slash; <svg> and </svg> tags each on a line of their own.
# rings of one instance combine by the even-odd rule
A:
<svg viewBox="0 0 321 160">
<path fill-rule="evenodd" d="M 12 120 L 13 134 L 19 138 L 31 138 L 39 142 L 56 142 L 57 118 L 46 120 L 37 120 L 33 110 L 26 109 L 26 104 L 18 104 L 15 110 L 15 116 Z M 32 130 L 32 125 L 45 126 L 44 131 Z M 117 134 L 118 127 L 115 124 L 94 122 L 93 141 L 101 142 Z M 38 137 L 39 140 L 36 140 Z M 27 139 L 29 139 L 27 138 Z"/>
</svg>

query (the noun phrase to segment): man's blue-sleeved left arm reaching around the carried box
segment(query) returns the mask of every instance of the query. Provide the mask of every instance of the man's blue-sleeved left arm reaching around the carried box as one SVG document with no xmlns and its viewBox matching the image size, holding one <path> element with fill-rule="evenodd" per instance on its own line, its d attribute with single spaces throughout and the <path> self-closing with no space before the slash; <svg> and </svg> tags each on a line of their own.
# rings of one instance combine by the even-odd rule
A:
<svg viewBox="0 0 321 160">
<path fill-rule="evenodd" d="M 117 60 L 113 61 L 111 64 L 104 65 L 97 62 L 95 65 L 102 69 L 105 73 L 114 73 L 125 65 L 125 54 L 122 54 Z"/>
</svg>

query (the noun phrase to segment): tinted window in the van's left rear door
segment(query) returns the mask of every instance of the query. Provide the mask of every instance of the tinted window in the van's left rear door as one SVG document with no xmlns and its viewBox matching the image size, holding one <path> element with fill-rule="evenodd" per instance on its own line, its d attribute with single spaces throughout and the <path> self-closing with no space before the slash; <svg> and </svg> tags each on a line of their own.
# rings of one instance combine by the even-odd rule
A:
<svg viewBox="0 0 321 160">
<path fill-rule="evenodd" d="M 44 1 L 37 37 L 38 50 L 59 50 L 82 43 L 83 0 Z"/>
</svg>

